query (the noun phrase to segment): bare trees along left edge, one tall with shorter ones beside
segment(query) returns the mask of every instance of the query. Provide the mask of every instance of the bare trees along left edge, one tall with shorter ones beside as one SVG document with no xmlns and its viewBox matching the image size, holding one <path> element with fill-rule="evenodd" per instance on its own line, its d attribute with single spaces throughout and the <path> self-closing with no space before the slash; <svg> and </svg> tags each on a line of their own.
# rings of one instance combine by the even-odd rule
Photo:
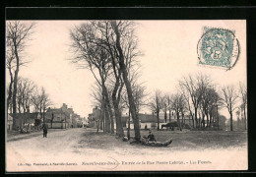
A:
<svg viewBox="0 0 256 177">
<path fill-rule="evenodd" d="M 48 94 L 44 88 L 38 89 L 30 79 L 19 76 L 21 68 L 31 62 L 25 53 L 34 25 L 19 21 L 6 24 L 6 68 L 10 76 L 7 111 L 13 114 L 26 113 L 32 106 L 33 111 L 39 112 L 44 118 L 44 112 L 51 104 Z"/>
</svg>

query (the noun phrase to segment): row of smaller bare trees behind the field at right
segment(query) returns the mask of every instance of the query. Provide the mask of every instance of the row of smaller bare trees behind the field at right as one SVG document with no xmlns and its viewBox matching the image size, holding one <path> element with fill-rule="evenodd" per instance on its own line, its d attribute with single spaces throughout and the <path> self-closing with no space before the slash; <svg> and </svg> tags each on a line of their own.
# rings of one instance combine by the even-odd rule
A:
<svg viewBox="0 0 256 177">
<path fill-rule="evenodd" d="M 179 81 L 177 90 L 174 94 L 162 94 L 157 90 L 150 102 L 151 109 L 158 117 L 158 129 L 160 129 L 160 110 L 164 113 L 165 122 L 167 111 L 169 122 L 173 111 L 180 126 L 182 125 L 180 117 L 181 122 L 184 123 L 184 116 L 187 114 L 192 119 L 192 127 L 200 128 L 219 126 L 219 110 L 224 107 L 230 116 L 230 130 L 233 130 L 233 111 L 238 107 L 243 111 L 244 129 L 246 129 L 247 89 L 244 84 L 239 83 L 238 89 L 233 86 L 217 89 L 210 76 L 199 73 L 195 76 L 183 77 Z"/>
</svg>

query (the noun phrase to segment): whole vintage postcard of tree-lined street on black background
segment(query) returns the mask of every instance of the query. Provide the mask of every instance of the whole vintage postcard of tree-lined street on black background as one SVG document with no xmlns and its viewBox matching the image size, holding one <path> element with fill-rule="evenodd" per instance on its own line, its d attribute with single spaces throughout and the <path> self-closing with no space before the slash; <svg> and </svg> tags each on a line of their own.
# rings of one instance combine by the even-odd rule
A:
<svg viewBox="0 0 256 177">
<path fill-rule="evenodd" d="M 247 170 L 245 20 L 6 21 L 6 171 Z"/>
</svg>

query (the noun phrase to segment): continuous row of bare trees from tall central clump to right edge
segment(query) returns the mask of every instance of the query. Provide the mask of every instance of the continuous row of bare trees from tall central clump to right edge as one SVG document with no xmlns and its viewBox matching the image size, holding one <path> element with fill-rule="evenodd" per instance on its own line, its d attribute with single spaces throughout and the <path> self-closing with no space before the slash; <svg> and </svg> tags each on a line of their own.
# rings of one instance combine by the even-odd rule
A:
<svg viewBox="0 0 256 177">
<path fill-rule="evenodd" d="M 170 119 L 173 110 L 178 122 L 180 116 L 184 120 L 185 113 L 189 113 L 192 126 L 200 128 L 219 125 L 218 110 L 225 106 L 232 122 L 234 105 L 238 100 L 236 90 L 229 86 L 217 90 L 211 77 L 202 74 L 182 78 L 177 93 L 162 96 L 157 90 L 145 103 L 147 93 L 136 77 L 140 68 L 137 59 L 142 53 L 137 47 L 134 22 L 92 21 L 70 29 L 70 37 L 74 51 L 71 61 L 78 68 L 89 69 L 96 79 L 92 94 L 101 109 L 98 122 L 103 124 L 104 132 L 114 134 L 115 120 L 116 134 L 124 136 L 121 110 L 126 107 L 134 123 L 135 139 L 140 141 L 138 113 L 141 105 L 149 105 L 157 114 L 158 129 L 160 110 L 164 112 L 165 122 L 167 111 Z M 245 117 L 247 91 L 242 85 L 239 90 Z M 232 124 L 230 126 L 232 130 Z"/>
</svg>

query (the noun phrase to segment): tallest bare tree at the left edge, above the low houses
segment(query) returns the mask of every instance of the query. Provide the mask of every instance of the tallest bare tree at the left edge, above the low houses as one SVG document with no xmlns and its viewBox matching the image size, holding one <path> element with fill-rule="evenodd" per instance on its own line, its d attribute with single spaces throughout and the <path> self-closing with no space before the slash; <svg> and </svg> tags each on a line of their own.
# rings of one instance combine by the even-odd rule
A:
<svg viewBox="0 0 256 177">
<path fill-rule="evenodd" d="M 15 70 L 13 76 L 13 113 L 16 113 L 16 96 L 17 96 L 17 85 L 20 67 L 26 63 L 28 60 L 24 60 L 22 55 L 26 48 L 26 43 L 30 39 L 32 34 L 32 28 L 34 24 L 29 26 L 20 23 L 20 22 L 7 22 L 6 25 L 6 45 L 11 52 L 11 55 L 14 55 L 15 58 Z"/>
</svg>

